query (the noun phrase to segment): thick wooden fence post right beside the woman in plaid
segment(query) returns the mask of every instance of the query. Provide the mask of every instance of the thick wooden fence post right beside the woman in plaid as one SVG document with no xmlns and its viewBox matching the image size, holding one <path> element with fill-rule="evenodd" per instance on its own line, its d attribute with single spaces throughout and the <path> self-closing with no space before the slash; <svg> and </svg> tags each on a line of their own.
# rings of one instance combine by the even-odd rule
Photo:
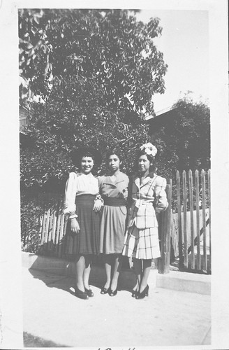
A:
<svg viewBox="0 0 229 350">
<path fill-rule="evenodd" d="M 159 214 L 158 230 L 161 237 L 161 258 L 158 258 L 159 274 L 170 272 L 170 222 L 171 222 L 171 202 L 172 202 L 172 180 L 167 180 L 166 194 L 168 198 L 168 208 Z"/>
</svg>

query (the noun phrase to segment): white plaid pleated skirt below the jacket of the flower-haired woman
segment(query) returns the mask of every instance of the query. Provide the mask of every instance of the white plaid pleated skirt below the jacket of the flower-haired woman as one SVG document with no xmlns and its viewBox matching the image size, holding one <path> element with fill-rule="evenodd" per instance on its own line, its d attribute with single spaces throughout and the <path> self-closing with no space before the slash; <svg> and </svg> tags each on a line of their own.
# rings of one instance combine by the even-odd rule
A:
<svg viewBox="0 0 229 350">
<path fill-rule="evenodd" d="M 158 228 L 136 228 L 135 225 L 128 228 L 124 241 L 122 255 L 136 259 L 160 258 L 160 246 L 158 240 Z"/>
</svg>

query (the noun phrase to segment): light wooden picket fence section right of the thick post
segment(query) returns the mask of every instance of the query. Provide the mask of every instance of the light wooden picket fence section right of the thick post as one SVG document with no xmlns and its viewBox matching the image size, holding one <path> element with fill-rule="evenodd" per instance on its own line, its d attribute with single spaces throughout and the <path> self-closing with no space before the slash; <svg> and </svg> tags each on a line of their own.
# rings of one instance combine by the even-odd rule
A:
<svg viewBox="0 0 229 350">
<path fill-rule="evenodd" d="M 211 272 L 211 172 L 177 171 L 177 214 L 171 223 L 172 245 L 179 267 Z M 178 249 L 177 249 L 178 248 Z M 177 251 L 178 250 L 178 251 Z"/>
</svg>

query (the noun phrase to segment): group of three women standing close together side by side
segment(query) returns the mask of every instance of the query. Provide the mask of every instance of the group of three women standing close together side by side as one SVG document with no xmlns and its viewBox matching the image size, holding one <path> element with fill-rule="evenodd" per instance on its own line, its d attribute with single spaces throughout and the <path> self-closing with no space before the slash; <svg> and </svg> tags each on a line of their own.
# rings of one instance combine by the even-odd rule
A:
<svg viewBox="0 0 229 350">
<path fill-rule="evenodd" d="M 168 201 L 166 180 L 156 175 L 156 147 L 145 144 L 137 157 L 138 173 L 131 181 L 131 206 L 128 209 L 126 236 L 126 200 L 128 176 L 120 172 L 121 157 L 117 151 L 107 155 L 108 176 L 96 179 L 91 170 L 101 158 L 96 151 L 77 151 L 80 173 L 71 173 L 66 183 L 65 210 L 69 214 L 67 251 L 76 255 L 75 295 L 82 299 L 93 296 L 89 288 L 91 256 L 103 253 L 106 282 L 101 294 L 117 295 L 121 255 L 133 257 L 138 284 L 133 297 L 142 299 L 149 292 L 147 284 L 152 259 L 161 256 L 156 212 L 165 210 Z M 97 157 L 97 160 L 96 160 Z M 101 196 L 98 195 L 99 189 Z M 104 202 L 101 212 L 99 211 Z M 155 209 L 154 209 L 155 207 Z"/>
</svg>

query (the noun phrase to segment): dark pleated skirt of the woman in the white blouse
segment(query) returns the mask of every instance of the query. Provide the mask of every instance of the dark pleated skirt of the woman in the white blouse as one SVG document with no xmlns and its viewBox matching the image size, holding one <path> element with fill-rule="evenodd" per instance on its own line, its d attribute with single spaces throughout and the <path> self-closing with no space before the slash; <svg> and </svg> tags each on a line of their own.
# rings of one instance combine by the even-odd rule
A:
<svg viewBox="0 0 229 350">
<path fill-rule="evenodd" d="M 71 220 L 66 228 L 65 252 L 69 255 L 99 254 L 100 214 L 93 210 L 95 195 L 79 195 L 75 199 L 80 232 L 71 232 Z"/>
</svg>

